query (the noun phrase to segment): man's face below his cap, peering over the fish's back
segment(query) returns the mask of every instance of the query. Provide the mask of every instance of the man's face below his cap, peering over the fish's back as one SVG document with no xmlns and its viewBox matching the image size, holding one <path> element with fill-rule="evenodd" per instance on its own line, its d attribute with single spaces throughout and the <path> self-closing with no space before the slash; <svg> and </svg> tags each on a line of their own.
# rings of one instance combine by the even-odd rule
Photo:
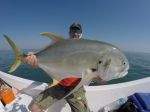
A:
<svg viewBox="0 0 150 112">
<path fill-rule="evenodd" d="M 82 37 L 82 32 L 80 29 L 73 29 L 70 31 L 70 38 L 80 39 Z"/>
</svg>

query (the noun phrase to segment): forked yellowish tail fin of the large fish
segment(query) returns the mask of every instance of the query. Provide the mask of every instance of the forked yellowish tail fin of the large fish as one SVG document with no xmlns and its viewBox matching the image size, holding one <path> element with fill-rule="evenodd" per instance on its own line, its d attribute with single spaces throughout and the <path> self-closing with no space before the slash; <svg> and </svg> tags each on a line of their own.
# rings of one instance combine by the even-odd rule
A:
<svg viewBox="0 0 150 112">
<path fill-rule="evenodd" d="M 8 71 L 9 73 L 12 73 L 21 64 L 21 59 L 22 59 L 23 55 L 22 55 L 20 49 L 17 48 L 17 46 L 15 45 L 15 43 L 8 36 L 4 35 L 4 37 L 7 40 L 7 42 L 9 43 L 9 45 L 12 47 L 12 50 L 15 52 L 15 56 L 16 56 L 15 62 L 13 63 L 13 65 L 11 66 L 11 68 Z"/>
</svg>

